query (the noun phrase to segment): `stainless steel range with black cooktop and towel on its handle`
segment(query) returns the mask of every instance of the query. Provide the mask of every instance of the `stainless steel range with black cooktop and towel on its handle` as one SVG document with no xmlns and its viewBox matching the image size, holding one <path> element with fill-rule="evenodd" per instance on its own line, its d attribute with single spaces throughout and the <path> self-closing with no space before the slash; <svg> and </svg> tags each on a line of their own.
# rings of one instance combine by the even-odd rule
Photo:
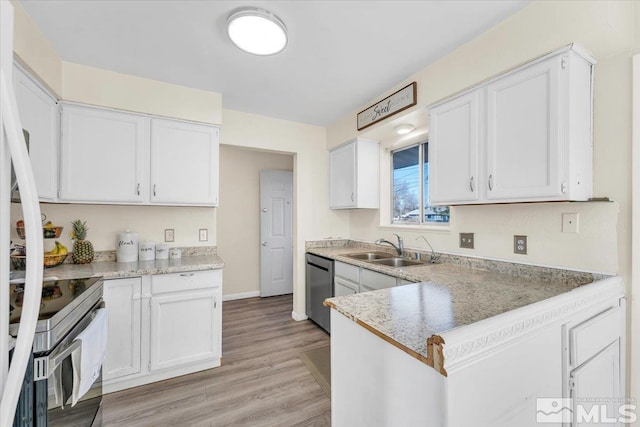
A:
<svg viewBox="0 0 640 427">
<path fill-rule="evenodd" d="M 101 425 L 101 377 L 75 406 L 67 402 L 73 388 L 71 353 L 80 344 L 74 340 L 103 307 L 102 293 L 101 277 L 43 283 L 33 365 L 25 375 L 14 426 Z M 20 324 L 22 297 L 22 286 L 11 285 L 9 333 L 14 336 Z"/>
</svg>

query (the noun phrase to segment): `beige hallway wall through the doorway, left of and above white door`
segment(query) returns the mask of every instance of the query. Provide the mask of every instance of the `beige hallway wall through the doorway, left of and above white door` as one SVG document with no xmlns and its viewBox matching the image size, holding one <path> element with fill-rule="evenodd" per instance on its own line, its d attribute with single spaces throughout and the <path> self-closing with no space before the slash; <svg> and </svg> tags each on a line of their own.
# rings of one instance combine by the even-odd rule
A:
<svg viewBox="0 0 640 427">
<path fill-rule="evenodd" d="M 260 290 L 260 171 L 293 170 L 293 156 L 220 147 L 218 253 L 225 261 L 224 294 Z"/>
</svg>

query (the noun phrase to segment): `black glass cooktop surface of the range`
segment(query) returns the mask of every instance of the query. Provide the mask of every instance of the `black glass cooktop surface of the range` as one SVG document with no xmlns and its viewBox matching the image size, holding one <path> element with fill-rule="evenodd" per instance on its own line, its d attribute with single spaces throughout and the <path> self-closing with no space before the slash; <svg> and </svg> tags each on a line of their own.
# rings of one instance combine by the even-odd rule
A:
<svg viewBox="0 0 640 427">
<path fill-rule="evenodd" d="M 42 283 L 42 301 L 40 303 L 40 313 L 38 320 L 52 318 L 58 312 L 69 308 L 79 300 L 83 299 L 83 294 L 92 289 L 101 277 L 87 277 L 70 280 L 47 280 Z M 23 285 L 10 285 L 9 303 L 11 304 L 9 323 L 20 322 L 22 314 L 22 302 L 24 298 Z"/>
</svg>

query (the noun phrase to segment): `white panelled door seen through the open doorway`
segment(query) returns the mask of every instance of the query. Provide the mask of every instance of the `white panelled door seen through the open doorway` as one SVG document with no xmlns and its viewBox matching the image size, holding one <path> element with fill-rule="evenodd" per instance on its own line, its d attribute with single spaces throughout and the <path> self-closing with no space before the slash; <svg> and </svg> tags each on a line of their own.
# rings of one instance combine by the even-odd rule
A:
<svg viewBox="0 0 640 427">
<path fill-rule="evenodd" d="M 293 292 L 293 172 L 260 172 L 260 296 Z"/>
</svg>

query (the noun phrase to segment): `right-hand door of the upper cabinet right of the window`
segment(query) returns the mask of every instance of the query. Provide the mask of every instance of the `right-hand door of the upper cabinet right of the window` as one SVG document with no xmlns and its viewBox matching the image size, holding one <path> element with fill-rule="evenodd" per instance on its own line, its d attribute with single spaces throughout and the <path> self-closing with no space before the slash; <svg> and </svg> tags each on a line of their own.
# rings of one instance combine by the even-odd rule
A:
<svg viewBox="0 0 640 427">
<path fill-rule="evenodd" d="M 487 198 L 535 199 L 562 194 L 561 57 L 487 86 Z"/>
</svg>

